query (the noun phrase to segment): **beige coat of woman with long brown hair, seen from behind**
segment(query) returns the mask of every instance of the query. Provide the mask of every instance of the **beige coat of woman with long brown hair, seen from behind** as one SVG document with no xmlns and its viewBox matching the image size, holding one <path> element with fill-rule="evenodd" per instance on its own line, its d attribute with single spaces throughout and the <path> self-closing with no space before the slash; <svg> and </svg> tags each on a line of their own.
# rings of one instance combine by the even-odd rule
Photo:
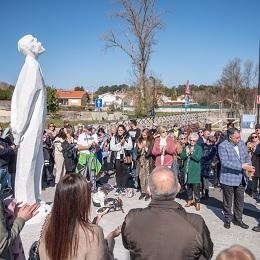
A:
<svg viewBox="0 0 260 260">
<path fill-rule="evenodd" d="M 79 245 L 78 253 L 69 260 L 112 260 L 112 253 L 109 252 L 107 242 L 104 239 L 104 233 L 101 227 L 91 224 L 94 230 L 94 236 L 87 230 L 85 235 L 82 227 L 79 227 Z M 45 250 L 44 241 L 45 232 L 43 231 L 40 240 L 39 254 L 41 260 L 50 260 Z M 57 245 L 57 248 L 59 245 Z M 65 259 L 64 259 L 65 260 Z"/>
</svg>

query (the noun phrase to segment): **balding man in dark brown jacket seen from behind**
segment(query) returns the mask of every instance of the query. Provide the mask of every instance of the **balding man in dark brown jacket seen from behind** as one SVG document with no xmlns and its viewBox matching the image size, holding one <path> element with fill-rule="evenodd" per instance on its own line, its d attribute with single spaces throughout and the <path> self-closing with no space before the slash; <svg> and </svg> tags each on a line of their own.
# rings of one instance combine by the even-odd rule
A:
<svg viewBox="0 0 260 260">
<path fill-rule="evenodd" d="M 168 167 L 157 167 L 149 175 L 151 203 L 130 210 L 122 225 L 123 245 L 131 260 L 212 257 L 213 243 L 203 218 L 187 213 L 174 201 L 179 190 L 176 175 Z"/>
</svg>

